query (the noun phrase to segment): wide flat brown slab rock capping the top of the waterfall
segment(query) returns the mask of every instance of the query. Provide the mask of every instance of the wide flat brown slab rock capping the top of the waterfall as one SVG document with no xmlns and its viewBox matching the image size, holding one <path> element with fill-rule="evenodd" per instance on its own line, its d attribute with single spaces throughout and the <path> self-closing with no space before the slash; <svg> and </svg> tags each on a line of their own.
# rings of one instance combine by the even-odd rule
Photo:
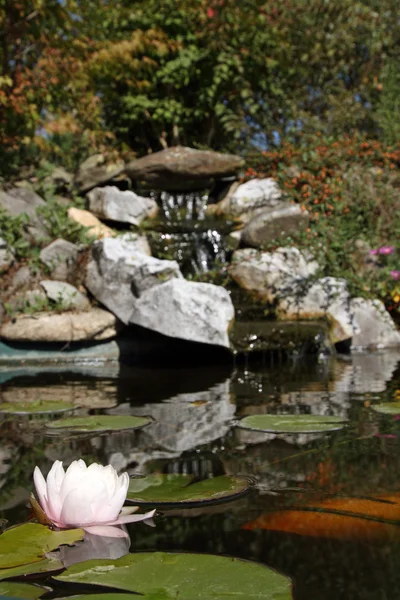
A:
<svg viewBox="0 0 400 600">
<path fill-rule="evenodd" d="M 133 160 L 126 173 L 137 184 L 165 191 L 209 187 L 215 179 L 235 175 L 244 166 L 240 156 L 173 146 Z"/>
</svg>

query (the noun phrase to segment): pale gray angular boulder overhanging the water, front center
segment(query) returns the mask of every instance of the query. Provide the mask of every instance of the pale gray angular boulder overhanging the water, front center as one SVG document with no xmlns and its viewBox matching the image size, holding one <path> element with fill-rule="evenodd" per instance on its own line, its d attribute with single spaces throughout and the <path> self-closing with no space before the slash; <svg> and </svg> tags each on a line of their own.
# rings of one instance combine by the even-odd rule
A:
<svg viewBox="0 0 400 600">
<path fill-rule="evenodd" d="M 225 288 L 173 278 L 139 296 L 130 323 L 169 337 L 229 348 L 234 314 Z"/>
</svg>

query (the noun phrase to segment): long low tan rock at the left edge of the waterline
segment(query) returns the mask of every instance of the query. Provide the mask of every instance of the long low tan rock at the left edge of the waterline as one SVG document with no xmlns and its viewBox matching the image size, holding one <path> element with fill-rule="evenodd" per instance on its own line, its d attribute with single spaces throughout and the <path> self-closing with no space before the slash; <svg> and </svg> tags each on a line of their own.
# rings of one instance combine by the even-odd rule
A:
<svg viewBox="0 0 400 600">
<path fill-rule="evenodd" d="M 83 342 L 107 340 L 117 334 L 117 319 L 101 308 L 88 312 L 21 315 L 0 328 L 13 342 Z"/>
</svg>

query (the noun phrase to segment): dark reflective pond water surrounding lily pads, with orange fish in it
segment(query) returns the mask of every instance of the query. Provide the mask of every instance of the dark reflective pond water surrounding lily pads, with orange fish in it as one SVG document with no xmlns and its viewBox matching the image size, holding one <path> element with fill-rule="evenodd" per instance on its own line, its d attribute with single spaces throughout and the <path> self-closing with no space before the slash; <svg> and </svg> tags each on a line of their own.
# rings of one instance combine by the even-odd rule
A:
<svg viewBox="0 0 400 600">
<path fill-rule="evenodd" d="M 400 420 L 373 408 L 400 400 L 400 353 L 181 369 L 2 371 L 0 382 L 2 403 L 62 400 L 80 406 L 78 415 L 154 419 L 140 430 L 49 435 L 45 424 L 57 415 L 0 417 L 0 518 L 9 524 L 30 516 L 35 465 L 47 473 L 57 459 L 196 481 L 243 475 L 254 488 L 235 501 L 163 509 L 155 528 L 128 525 L 130 551 L 257 561 L 290 577 L 296 600 L 400 597 Z M 237 427 L 242 417 L 265 413 L 347 423 L 339 431 L 294 435 Z M 50 587 L 48 598 L 76 594 L 60 582 Z"/>
</svg>

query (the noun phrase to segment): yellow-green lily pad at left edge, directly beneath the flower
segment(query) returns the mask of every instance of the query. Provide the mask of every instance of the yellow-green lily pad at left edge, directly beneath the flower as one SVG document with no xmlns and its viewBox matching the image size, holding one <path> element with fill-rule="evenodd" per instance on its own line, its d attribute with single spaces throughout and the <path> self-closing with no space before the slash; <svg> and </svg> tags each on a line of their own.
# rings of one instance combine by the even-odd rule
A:
<svg viewBox="0 0 400 600">
<path fill-rule="evenodd" d="M 0 535 L 0 569 L 39 562 L 62 544 L 83 539 L 83 529 L 52 531 L 40 523 L 24 523 Z M 1 571 L 0 571 L 1 573 Z"/>
</svg>

